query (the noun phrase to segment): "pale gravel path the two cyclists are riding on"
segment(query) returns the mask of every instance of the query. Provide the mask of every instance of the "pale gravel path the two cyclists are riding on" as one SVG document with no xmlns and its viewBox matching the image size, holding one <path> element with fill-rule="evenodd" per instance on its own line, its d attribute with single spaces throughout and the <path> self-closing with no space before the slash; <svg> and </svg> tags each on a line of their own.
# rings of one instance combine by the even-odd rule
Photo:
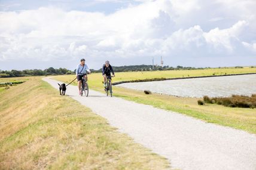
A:
<svg viewBox="0 0 256 170">
<path fill-rule="evenodd" d="M 57 81 L 44 78 L 54 88 Z M 57 91 L 56 91 L 57 92 Z M 256 169 L 256 135 L 90 90 L 66 94 L 179 169 Z"/>
</svg>

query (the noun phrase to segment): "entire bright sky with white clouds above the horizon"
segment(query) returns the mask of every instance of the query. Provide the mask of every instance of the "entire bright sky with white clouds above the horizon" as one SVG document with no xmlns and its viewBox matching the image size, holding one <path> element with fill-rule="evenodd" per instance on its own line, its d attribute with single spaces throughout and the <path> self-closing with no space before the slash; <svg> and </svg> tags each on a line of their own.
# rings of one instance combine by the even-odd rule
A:
<svg viewBox="0 0 256 170">
<path fill-rule="evenodd" d="M 256 65 L 255 0 L 0 0 L 0 69 Z"/>
</svg>

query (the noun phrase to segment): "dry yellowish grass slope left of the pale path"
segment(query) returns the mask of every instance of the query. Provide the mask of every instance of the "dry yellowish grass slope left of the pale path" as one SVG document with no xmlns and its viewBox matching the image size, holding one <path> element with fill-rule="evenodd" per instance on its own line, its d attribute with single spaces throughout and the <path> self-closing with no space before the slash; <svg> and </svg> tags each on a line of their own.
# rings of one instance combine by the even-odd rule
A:
<svg viewBox="0 0 256 170">
<path fill-rule="evenodd" d="M 166 159 L 40 77 L 25 79 L 0 92 L 0 169 L 167 168 Z"/>
</svg>

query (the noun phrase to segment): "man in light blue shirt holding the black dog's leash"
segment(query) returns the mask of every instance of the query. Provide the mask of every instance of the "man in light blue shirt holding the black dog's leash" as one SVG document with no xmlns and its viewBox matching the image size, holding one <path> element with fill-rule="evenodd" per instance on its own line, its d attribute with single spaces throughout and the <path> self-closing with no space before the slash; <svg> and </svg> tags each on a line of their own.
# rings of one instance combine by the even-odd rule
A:
<svg viewBox="0 0 256 170">
<path fill-rule="evenodd" d="M 75 71 L 75 73 L 77 75 L 79 95 L 81 95 L 81 81 L 82 81 L 82 78 L 84 77 L 84 79 L 86 79 L 86 81 L 87 81 L 86 71 L 90 73 L 90 69 L 86 64 L 86 60 L 84 60 L 84 58 L 82 58 L 80 61 L 81 61 L 81 63 L 77 65 L 77 70 Z"/>
</svg>

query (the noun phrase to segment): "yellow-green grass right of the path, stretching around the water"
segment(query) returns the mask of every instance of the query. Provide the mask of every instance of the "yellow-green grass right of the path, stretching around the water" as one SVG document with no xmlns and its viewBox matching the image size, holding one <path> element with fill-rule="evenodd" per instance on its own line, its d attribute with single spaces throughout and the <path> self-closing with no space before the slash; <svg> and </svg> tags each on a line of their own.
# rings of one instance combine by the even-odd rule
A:
<svg viewBox="0 0 256 170">
<path fill-rule="evenodd" d="M 170 70 L 156 72 L 122 72 L 115 73 L 113 82 L 130 81 L 136 79 L 151 78 L 182 78 L 187 76 L 211 76 L 239 73 L 256 73 L 256 68 L 244 67 L 243 69 L 203 69 L 203 70 Z M 55 79 L 63 82 L 70 82 L 74 75 L 56 76 Z M 77 83 L 74 82 L 74 85 Z M 102 76 L 100 73 L 89 75 L 90 88 L 103 92 Z M 228 87 L 227 87 L 228 88 Z M 142 91 L 125 89 L 118 86 L 113 88 L 114 95 L 126 100 L 136 101 L 142 104 L 152 105 L 160 109 L 166 109 L 185 115 L 192 116 L 206 122 L 217 123 L 232 128 L 242 129 L 256 134 L 256 111 L 255 109 L 230 108 L 217 104 L 206 104 L 199 106 L 197 100 L 202 98 L 181 98 L 170 95 L 151 94 L 146 95 Z"/>
</svg>

